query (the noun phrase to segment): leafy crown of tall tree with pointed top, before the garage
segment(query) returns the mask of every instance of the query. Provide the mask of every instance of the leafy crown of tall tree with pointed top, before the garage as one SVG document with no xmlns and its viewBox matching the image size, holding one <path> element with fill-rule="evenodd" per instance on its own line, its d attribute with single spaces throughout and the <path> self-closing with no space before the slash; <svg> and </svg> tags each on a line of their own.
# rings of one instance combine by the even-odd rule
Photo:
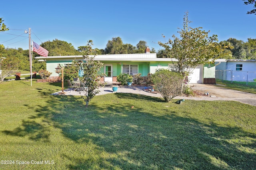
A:
<svg viewBox="0 0 256 170">
<path fill-rule="evenodd" d="M 226 54 L 224 49 L 230 47 L 230 43 L 224 41 L 218 43 L 217 35 L 208 36 L 210 31 L 202 30 L 202 27 L 192 28 L 188 24 L 188 12 L 183 18 L 183 28 L 178 31 L 180 38 L 175 35 L 167 42 L 158 42 L 161 47 L 170 52 L 171 55 L 178 59 L 172 70 L 176 72 L 190 72 L 200 64 L 208 63 L 211 59 L 222 57 Z M 163 35 L 164 37 L 164 35 Z"/>
</svg>

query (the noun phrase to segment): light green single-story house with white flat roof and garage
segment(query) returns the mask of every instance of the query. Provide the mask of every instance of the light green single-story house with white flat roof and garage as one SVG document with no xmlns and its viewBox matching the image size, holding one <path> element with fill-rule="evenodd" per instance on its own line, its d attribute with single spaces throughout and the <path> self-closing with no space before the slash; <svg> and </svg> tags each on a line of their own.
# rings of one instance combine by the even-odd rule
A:
<svg viewBox="0 0 256 170">
<path fill-rule="evenodd" d="M 142 54 L 114 54 L 114 55 L 96 55 L 94 60 L 101 61 L 104 66 L 100 72 L 105 73 L 107 76 L 102 78 L 105 82 L 116 82 L 116 78 L 121 73 L 128 73 L 130 75 L 141 73 L 141 76 L 147 76 L 148 73 L 154 74 L 156 69 L 170 68 L 170 66 L 177 62 L 177 59 L 171 58 L 157 58 L 156 53 Z M 49 57 L 36 57 L 40 61 L 46 62 L 46 70 L 52 72 L 51 77 L 59 76 L 56 73 L 56 68 L 59 64 L 69 66 L 73 60 L 83 60 L 82 55 L 78 56 L 49 56 Z M 206 64 L 197 66 L 192 75 L 189 76 L 189 83 L 205 83 L 214 84 L 215 80 L 215 66 L 214 64 Z M 210 83 L 207 80 L 210 80 Z"/>
</svg>

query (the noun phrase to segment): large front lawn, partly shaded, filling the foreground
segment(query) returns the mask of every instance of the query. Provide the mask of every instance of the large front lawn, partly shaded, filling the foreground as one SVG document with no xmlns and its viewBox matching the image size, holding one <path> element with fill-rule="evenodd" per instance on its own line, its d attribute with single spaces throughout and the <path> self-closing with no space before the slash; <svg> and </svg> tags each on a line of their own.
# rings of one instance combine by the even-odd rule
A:
<svg viewBox="0 0 256 170">
<path fill-rule="evenodd" d="M 256 169 L 255 106 L 115 93 L 85 109 L 79 96 L 50 95 L 60 90 L 0 84 L 0 155 L 15 161 L 0 169 Z"/>
</svg>

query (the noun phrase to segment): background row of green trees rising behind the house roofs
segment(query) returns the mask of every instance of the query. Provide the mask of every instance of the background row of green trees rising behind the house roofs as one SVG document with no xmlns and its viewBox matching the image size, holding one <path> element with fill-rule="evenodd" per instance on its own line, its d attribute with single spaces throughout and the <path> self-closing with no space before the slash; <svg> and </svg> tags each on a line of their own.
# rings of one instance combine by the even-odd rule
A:
<svg viewBox="0 0 256 170">
<path fill-rule="evenodd" d="M 223 56 L 223 59 L 256 59 L 256 39 L 248 38 L 247 42 L 230 38 L 226 40 L 234 48 L 227 48 L 225 51 L 230 55 Z M 69 56 L 69 55 L 83 55 L 88 47 L 80 46 L 75 49 L 71 43 L 61 41 L 58 39 L 46 41 L 40 45 L 49 51 L 49 56 Z M 105 49 L 94 49 L 97 55 L 104 54 L 136 54 L 144 53 L 147 47 L 146 41 L 139 41 L 136 46 L 132 44 L 125 44 L 120 37 L 114 37 L 106 44 Z M 156 53 L 158 58 L 175 58 L 175 55 L 166 49 L 159 49 L 156 51 L 154 48 L 150 49 L 150 53 Z M 93 55 L 93 54 L 92 54 Z M 34 57 L 39 55 L 33 52 L 33 70 L 38 71 L 45 69 L 45 63 L 38 62 Z M 29 70 L 29 51 L 22 48 L 1 48 L 0 57 L 12 58 L 12 61 L 18 63 L 19 70 Z"/>
</svg>

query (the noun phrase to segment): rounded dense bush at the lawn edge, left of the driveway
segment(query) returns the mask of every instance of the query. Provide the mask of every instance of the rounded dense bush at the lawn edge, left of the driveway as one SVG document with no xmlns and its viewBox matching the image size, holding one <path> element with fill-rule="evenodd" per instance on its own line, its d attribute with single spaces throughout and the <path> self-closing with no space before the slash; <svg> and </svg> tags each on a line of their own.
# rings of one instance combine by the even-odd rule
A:
<svg viewBox="0 0 256 170">
<path fill-rule="evenodd" d="M 170 102 L 172 98 L 182 93 L 184 76 L 180 73 L 160 69 L 152 74 L 151 79 L 154 83 L 154 88 L 162 95 L 165 102 Z"/>
</svg>

